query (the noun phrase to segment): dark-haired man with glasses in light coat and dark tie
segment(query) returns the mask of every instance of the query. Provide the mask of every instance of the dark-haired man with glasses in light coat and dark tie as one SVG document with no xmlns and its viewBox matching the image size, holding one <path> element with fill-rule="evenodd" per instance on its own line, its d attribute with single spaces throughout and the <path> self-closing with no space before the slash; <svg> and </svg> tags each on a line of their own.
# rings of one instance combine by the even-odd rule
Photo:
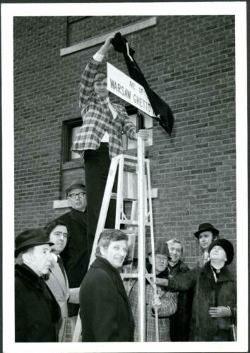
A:
<svg viewBox="0 0 250 353">
<path fill-rule="evenodd" d="M 59 322 L 59 342 L 66 342 L 66 328 L 74 330 L 74 321 L 70 320 L 68 312 L 68 302 L 79 304 L 79 287 L 69 288 L 68 277 L 64 270 L 64 265 L 60 257 L 64 250 L 69 232 L 64 222 L 53 220 L 45 227 L 49 240 L 54 243 L 52 246 L 52 266 L 49 269 L 49 275 L 46 283 L 54 294 L 56 301 L 61 308 L 61 321 Z M 68 325 L 67 325 L 68 323 Z M 70 331 L 69 331 L 70 332 Z"/>
</svg>

